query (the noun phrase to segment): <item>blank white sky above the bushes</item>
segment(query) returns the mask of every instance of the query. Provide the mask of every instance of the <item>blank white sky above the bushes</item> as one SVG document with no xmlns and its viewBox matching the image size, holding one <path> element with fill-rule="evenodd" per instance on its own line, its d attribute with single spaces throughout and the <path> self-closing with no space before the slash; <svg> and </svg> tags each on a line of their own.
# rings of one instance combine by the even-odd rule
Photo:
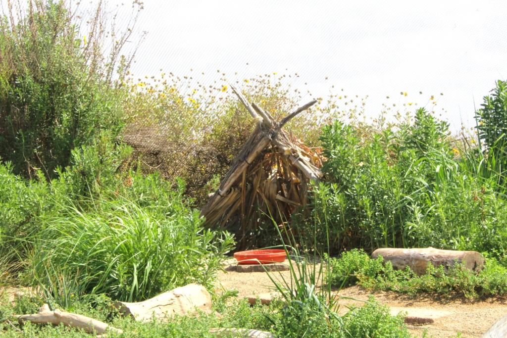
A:
<svg viewBox="0 0 507 338">
<path fill-rule="evenodd" d="M 506 18 L 505 0 L 145 0 L 137 29 L 148 35 L 132 71 L 193 68 L 205 72 L 205 84 L 220 78 L 217 69 L 231 80 L 297 72 L 293 87 L 315 97 L 332 85 L 368 94 L 369 116 L 383 102 L 424 106 L 434 94 L 435 110 L 457 130 L 461 121 L 475 125 L 474 99 L 479 107 L 495 80 L 507 77 Z"/>
</svg>

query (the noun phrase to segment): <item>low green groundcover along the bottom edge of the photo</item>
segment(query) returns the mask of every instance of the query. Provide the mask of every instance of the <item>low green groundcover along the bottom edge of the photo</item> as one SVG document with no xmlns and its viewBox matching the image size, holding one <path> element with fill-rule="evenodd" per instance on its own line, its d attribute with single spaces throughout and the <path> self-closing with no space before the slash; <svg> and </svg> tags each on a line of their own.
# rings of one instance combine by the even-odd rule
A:
<svg viewBox="0 0 507 338">
<path fill-rule="evenodd" d="M 230 295 L 230 294 L 229 294 Z M 0 332 L 6 337 L 89 337 L 90 334 L 74 328 L 25 323 L 18 325 L 14 314 L 37 312 L 43 300 L 38 297 L 18 297 L 14 304 L 2 295 L 0 301 Z M 363 307 L 349 311 L 343 321 L 330 319 L 318 308 L 304 305 L 286 306 L 274 301 L 269 306 L 250 306 L 246 300 L 217 295 L 211 314 L 176 316 L 163 323 L 135 322 L 120 317 L 111 306 L 111 298 L 97 295 L 87 302 L 75 302 L 68 309 L 104 321 L 124 331 L 108 333 L 112 337 L 215 337 L 211 328 L 255 328 L 272 332 L 276 337 L 356 338 L 356 337 L 410 337 L 401 315 L 392 317 L 387 307 L 370 298 Z M 231 335 L 235 336 L 235 335 Z M 237 335 L 236 335 L 237 336 Z"/>
</svg>

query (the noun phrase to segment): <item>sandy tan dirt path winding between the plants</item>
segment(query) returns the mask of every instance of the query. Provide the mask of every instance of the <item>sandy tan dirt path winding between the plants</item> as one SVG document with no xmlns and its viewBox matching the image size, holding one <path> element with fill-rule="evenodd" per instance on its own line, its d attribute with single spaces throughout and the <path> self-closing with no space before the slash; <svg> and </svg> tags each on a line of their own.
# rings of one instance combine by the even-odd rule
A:
<svg viewBox="0 0 507 338">
<path fill-rule="evenodd" d="M 283 276 L 290 280 L 288 271 L 275 272 L 272 276 Z M 226 290 L 238 290 L 239 297 L 248 295 L 258 295 L 273 291 L 273 284 L 266 273 L 251 272 L 238 273 L 235 271 L 225 271 L 219 273 L 219 284 Z M 507 314 L 507 301 L 491 299 L 483 302 L 456 301 L 435 301 L 428 298 L 413 298 L 396 294 L 394 292 L 368 292 L 357 286 L 343 289 L 339 293 L 344 297 L 352 297 L 359 301 L 350 300 L 340 301 L 344 305 L 341 309 L 346 309 L 346 305 L 360 306 L 362 302 L 368 299 L 370 294 L 389 306 L 392 312 L 407 311 L 409 316 L 412 313 L 424 313 L 429 316 L 434 315 L 432 324 L 410 326 L 412 334 L 421 336 L 424 330 L 428 336 L 435 338 L 451 337 L 461 333 L 461 337 L 481 337 L 493 323 Z"/>
</svg>

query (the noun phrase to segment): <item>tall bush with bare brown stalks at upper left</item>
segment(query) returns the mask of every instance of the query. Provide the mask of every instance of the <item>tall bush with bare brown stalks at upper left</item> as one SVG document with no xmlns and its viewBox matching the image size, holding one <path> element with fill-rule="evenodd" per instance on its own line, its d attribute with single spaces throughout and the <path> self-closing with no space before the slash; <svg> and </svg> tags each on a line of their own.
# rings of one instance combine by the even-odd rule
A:
<svg viewBox="0 0 507 338">
<path fill-rule="evenodd" d="M 101 6 L 95 22 L 103 20 Z M 104 57 L 104 31 L 81 39 L 66 2 L 29 0 L 27 8 L 0 18 L 0 157 L 16 174 L 32 177 L 40 168 L 53 178 L 73 148 L 102 130 L 118 134 L 124 90 L 110 79 L 121 45 Z"/>
</svg>

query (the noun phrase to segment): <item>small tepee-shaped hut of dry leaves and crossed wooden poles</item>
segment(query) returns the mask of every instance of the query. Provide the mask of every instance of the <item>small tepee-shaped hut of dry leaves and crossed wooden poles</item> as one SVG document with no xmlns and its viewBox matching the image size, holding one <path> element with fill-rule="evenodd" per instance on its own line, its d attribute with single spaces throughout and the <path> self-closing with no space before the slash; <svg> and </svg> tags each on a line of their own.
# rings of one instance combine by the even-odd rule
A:
<svg viewBox="0 0 507 338">
<path fill-rule="evenodd" d="M 263 222 L 268 226 L 271 222 L 274 230 L 271 219 L 283 224 L 296 208 L 306 204 L 309 181 L 321 176 L 322 157 L 319 149 L 306 147 L 282 129 L 315 100 L 278 122 L 231 87 L 258 124 L 219 189 L 201 209 L 201 216 L 207 227 L 234 233 L 238 248 L 248 248 L 255 245 Z"/>
</svg>

